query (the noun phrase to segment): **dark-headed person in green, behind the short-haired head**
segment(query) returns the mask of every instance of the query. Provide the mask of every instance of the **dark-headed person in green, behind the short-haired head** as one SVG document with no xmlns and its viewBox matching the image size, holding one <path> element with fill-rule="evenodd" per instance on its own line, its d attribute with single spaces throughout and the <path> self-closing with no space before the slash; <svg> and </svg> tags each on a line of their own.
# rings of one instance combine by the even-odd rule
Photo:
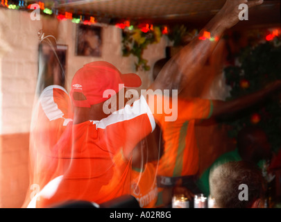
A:
<svg viewBox="0 0 281 222">
<path fill-rule="evenodd" d="M 271 155 L 271 144 L 269 144 L 268 136 L 264 130 L 258 126 L 246 126 L 237 135 L 237 148 L 234 151 L 219 156 L 198 179 L 198 187 L 203 191 L 205 196 L 209 196 L 210 173 L 219 165 L 225 162 L 241 160 L 253 162 L 253 164 L 257 165 L 261 160 L 270 160 Z"/>
</svg>

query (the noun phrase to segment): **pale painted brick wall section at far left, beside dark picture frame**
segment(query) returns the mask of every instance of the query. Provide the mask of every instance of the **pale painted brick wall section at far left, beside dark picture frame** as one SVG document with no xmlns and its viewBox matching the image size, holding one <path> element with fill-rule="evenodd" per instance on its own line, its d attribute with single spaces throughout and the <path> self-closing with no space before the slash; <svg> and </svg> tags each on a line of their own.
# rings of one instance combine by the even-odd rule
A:
<svg viewBox="0 0 281 222">
<path fill-rule="evenodd" d="M 37 73 L 37 31 L 40 21 L 27 12 L 0 10 L 0 133 L 28 131 Z"/>
</svg>

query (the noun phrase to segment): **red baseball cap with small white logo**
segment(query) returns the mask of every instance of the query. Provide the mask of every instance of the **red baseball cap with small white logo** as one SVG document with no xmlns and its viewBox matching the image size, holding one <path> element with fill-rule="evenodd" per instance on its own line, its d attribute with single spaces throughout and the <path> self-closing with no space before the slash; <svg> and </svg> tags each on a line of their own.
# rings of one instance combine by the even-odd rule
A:
<svg viewBox="0 0 281 222">
<path fill-rule="evenodd" d="M 103 97 L 106 89 L 119 92 L 119 84 L 124 84 L 124 87 L 139 87 L 142 85 L 142 80 L 137 74 L 121 74 L 109 62 L 90 62 L 74 75 L 70 96 L 76 107 L 90 108 L 91 105 L 108 99 Z M 83 94 L 83 100 L 74 99 L 74 92 Z"/>
</svg>

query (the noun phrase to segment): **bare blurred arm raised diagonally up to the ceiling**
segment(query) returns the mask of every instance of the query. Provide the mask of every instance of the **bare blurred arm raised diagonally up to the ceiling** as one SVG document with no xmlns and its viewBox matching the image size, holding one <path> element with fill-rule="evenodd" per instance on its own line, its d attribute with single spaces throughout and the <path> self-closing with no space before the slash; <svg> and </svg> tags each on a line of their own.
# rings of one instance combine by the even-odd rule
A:
<svg viewBox="0 0 281 222">
<path fill-rule="evenodd" d="M 223 32 L 239 22 L 239 5 L 246 3 L 248 8 L 257 6 L 260 0 L 227 0 L 223 8 L 207 23 L 198 37 L 195 37 L 187 46 L 173 56 L 160 71 L 150 89 L 178 89 L 188 86 L 195 74 L 205 65 L 207 58 L 212 54 Z M 204 32 L 210 33 L 214 41 L 200 40 Z"/>
</svg>

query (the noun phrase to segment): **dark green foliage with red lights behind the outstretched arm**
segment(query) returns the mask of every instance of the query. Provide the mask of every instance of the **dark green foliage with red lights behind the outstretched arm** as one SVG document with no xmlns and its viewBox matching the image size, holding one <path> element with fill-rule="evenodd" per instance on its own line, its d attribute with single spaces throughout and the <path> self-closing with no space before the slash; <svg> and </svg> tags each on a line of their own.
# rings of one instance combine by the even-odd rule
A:
<svg viewBox="0 0 281 222">
<path fill-rule="evenodd" d="M 281 41 L 275 37 L 270 42 L 247 46 L 238 56 L 240 65 L 224 69 L 227 84 L 232 87 L 228 100 L 256 92 L 268 83 L 281 78 Z M 236 138 L 241 128 L 248 125 L 262 127 L 273 151 L 281 148 L 281 95 L 280 93 L 266 99 L 266 102 L 239 114 L 239 118 L 227 121 L 232 126 L 229 136 Z"/>
</svg>

